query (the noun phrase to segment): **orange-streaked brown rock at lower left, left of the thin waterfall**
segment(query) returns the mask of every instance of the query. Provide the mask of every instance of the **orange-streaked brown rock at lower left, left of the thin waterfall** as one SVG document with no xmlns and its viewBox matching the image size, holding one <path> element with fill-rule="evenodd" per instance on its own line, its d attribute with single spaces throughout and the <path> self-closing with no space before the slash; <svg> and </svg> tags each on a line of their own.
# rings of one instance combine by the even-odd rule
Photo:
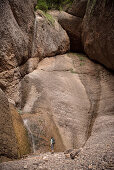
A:
<svg viewBox="0 0 114 170">
<path fill-rule="evenodd" d="M 22 118 L 0 89 L 0 161 L 30 152 Z"/>
</svg>

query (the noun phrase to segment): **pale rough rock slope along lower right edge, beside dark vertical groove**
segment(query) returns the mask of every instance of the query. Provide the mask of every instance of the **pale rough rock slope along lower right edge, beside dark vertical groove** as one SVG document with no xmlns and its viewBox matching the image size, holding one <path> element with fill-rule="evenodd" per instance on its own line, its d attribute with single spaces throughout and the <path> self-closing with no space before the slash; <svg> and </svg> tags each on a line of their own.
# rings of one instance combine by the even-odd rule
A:
<svg viewBox="0 0 114 170">
<path fill-rule="evenodd" d="M 76 168 L 113 169 L 114 157 L 114 75 L 100 71 L 100 101 L 92 133 L 79 157 Z"/>
</svg>

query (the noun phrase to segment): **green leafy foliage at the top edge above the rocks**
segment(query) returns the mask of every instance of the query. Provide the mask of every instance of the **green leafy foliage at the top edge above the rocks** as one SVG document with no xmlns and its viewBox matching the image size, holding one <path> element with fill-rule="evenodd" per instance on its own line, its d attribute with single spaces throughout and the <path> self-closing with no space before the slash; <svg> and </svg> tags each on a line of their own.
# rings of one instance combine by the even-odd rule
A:
<svg viewBox="0 0 114 170">
<path fill-rule="evenodd" d="M 73 0 L 38 0 L 35 10 L 40 9 L 46 12 L 49 9 L 61 10 L 65 5 L 72 4 Z"/>
</svg>

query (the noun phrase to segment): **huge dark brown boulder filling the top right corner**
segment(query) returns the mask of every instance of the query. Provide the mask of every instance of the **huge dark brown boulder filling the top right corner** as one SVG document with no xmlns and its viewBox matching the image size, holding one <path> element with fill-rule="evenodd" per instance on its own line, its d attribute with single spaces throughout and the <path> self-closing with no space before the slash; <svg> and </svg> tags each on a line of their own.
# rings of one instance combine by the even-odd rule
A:
<svg viewBox="0 0 114 170">
<path fill-rule="evenodd" d="M 114 1 L 89 1 L 82 29 L 86 54 L 114 70 Z"/>
</svg>

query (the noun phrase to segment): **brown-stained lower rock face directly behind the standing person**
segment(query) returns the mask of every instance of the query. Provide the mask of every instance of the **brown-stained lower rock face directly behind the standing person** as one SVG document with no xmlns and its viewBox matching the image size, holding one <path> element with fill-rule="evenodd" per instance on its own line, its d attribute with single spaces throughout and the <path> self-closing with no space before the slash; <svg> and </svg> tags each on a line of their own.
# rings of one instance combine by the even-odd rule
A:
<svg viewBox="0 0 114 170">
<path fill-rule="evenodd" d="M 31 149 L 35 154 L 45 153 L 51 151 L 50 139 L 54 136 L 56 141 L 54 151 L 60 152 L 65 150 L 65 146 L 62 142 L 61 135 L 58 127 L 56 126 L 53 117 L 46 112 L 38 112 L 36 114 L 24 114 L 22 115 L 24 124 L 30 129 L 29 133 L 31 141 Z"/>
</svg>

